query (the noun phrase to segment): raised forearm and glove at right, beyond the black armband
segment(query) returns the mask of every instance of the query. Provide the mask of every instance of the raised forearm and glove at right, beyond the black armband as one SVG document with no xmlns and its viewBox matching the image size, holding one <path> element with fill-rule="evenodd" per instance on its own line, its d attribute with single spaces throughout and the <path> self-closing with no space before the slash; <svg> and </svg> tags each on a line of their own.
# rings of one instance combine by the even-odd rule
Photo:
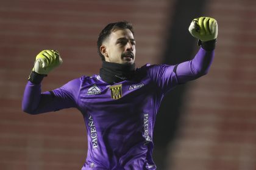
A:
<svg viewBox="0 0 256 170">
<path fill-rule="evenodd" d="M 179 84 L 205 75 L 210 69 L 218 36 L 217 21 L 209 17 L 193 19 L 188 29 L 201 46 L 193 60 L 177 64 L 174 67 Z"/>
</svg>

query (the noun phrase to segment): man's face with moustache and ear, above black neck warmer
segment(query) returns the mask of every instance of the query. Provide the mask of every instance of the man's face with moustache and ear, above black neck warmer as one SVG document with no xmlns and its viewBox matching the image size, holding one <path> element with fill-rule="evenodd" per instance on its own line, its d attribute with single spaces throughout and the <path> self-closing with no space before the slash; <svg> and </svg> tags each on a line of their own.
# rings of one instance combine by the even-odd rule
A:
<svg viewBox="0 0 256 170">
<path fill-rule="evenodd" d="M 116 29 L 102 43 L 105 61 L 131 65 L 135 61 L 135 39 L 129 29 Z"/>
</svg>

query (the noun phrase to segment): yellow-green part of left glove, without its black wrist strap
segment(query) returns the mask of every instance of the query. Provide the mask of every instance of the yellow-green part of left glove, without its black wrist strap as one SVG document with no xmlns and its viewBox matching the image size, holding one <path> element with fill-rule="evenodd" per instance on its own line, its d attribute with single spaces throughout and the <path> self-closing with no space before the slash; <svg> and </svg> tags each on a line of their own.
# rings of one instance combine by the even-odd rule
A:
<svg viewBox="0 0 256 170">
<path fill-rule="evenodd" d="M 43 50 L 35 58 L 35 64 L 32 71 L 41 75 L 48 73 L 62 64 L 60 53 L 56 50 Z"/>
</svg>

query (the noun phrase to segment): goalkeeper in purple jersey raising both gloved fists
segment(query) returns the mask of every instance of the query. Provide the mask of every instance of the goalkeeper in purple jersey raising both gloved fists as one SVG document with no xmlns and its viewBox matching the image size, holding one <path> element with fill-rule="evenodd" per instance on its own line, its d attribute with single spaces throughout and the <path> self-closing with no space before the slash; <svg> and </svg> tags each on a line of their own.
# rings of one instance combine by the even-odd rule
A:
<svg viewBox="0 0 256 170">
<path fill-rule="evenodd" d="M 82 169 L 156 169 L 152 160 L 155 117 L 163 96 L 178 84 L 205 75 L 213 60 L 218 25 L 196 18 L 189 27 L 201 49 L 193 60 L 176 66 L 135 69 L 135 38 L 129 22 L 108 24 L 99 35 L 99 75 L 83 76 L 41 93 L 43 77 L 62 63 L 59 52 L 43 50 L 36 59 L 23 97 L 29 114 L 76 107 L 88 132 Z"/>
</svg>

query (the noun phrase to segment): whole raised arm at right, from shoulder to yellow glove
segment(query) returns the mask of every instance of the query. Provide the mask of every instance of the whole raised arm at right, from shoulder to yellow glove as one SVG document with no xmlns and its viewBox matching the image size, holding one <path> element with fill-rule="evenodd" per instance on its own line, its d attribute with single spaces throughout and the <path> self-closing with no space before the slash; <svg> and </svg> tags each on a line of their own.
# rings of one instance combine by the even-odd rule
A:
<svg viewBox="0 0 256 170">
<path fill-rule="evenodd" d="M 193 60 L 169 66 L 161 64 L 149 66 L 149 76 L 165 94 L 178 84 L 195 80 L 205 75 L 213 61 L 218 35 L 217 21 L 209 17 L 193 19 L 188 29 L 201 46 Z"/>
</svg>

